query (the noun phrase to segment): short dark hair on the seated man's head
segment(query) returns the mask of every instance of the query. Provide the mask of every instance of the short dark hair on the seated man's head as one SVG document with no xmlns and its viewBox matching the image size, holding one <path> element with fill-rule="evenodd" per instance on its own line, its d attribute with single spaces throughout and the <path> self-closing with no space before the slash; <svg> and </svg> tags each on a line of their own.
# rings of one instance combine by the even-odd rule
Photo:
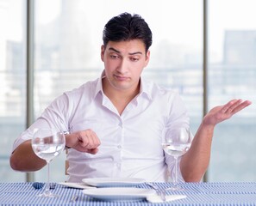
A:
<svg viewBox="0 0 256 206">
<path fill-rule="evenodd" d="M 146 52 L 152 45 L 152 32 L 147 22 L 140 15 L 122 13 L 111 18 L 103 30 L 103 45 L 109 41 L 128 41 L 140 39 L 146 47 Z"/>
</svg>

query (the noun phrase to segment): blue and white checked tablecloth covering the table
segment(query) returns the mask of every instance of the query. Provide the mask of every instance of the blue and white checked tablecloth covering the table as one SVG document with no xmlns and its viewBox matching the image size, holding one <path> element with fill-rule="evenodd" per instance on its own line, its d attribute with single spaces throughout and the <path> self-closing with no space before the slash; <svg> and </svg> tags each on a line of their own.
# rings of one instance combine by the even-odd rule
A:
<svg viewBox="0 0 256 206">
<path fill-rule="evenodd" d="M 168 203 L 148 203 L 143 199 L 133 201 L 102 201 L 87 197 L 81 189 L 56 185 L 52 191 L 57 198 L 36 197 L 42 189 L 36 190 L 33 183 L 0 183 L 0 205 L 87 205 L 87 206 L 147 206 L 147 205 L 256 205 L 256 182 L 235 183 L 183 183 L 184 191 L 168 191 L 168 194 L 183 194 L 184 199 Z M 170 183 L 153 183 L 164 189 Z M 149 188 L 145 183 L 140 188 Z M 72 197 L 78 196 L 76 202 Z"/>
</svg>

